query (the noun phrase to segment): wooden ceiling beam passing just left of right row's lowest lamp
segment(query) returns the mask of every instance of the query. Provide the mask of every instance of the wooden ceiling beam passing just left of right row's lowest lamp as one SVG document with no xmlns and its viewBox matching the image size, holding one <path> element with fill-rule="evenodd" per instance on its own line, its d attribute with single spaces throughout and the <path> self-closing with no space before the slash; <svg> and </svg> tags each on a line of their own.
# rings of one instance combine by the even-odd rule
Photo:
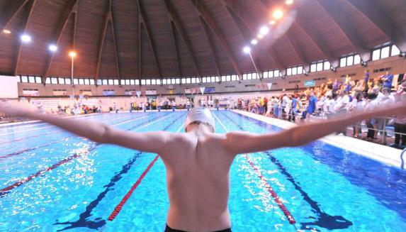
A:
<svg viewBox="0 0 406 232">
<path fill-rule="evenodd" d="M 232 50 L 230 48 L 229 43 L 227 43 L 227 40 L 225 40 L 224 36 L 220 32 L 220 29 L 218 26 L 215 24 L 215 21 L 213 21 L 213 18 L 211 18 L 210 14 L 208 11 L 205 10 L 203 5 L 199 3 L 199 1 L 191 0 L 191 3 L 193 6 L 195 6 L 196 12 L 198 13 L 199 16 L 201 16 L 205 22 L 208 24 L 209 28 L 215 35 L 215 37 L 219 40 L 220 45 L 222 48 L 225 50 L 225 54 L 227 55 L 228 59 L 230 60 L 232 67 L 234 67 L 235 72 L 237 72 L 239 80 L 242 80 L 242 72 L 239 70 L 239 65 L 237 61 L 235 60 L 234 55 L 232 54 Z"/>
</svg>

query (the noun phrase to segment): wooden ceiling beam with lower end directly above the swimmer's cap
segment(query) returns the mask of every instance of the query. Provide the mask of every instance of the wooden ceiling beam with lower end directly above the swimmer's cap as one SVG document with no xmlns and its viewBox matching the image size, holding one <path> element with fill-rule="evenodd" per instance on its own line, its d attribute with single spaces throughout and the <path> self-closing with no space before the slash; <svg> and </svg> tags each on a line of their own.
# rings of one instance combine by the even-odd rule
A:
<svg viewBox="0 0 406 232">
<path fill-rule="evenodd" d="M 188 40 L 188 37 L 184 31 L 183 26 L 181 25 L 181 21 L 179 19 L 179 16 L 176 14 L 174 7 L 172 6 L 171 2 L 169 0 L 162 0 L 164 1 L 165 6 L 167 7 L 167 11 L 169 13 L 169 16 L 171 16 L 171 21 L 174 23 L 174 26 L 176 27 L 176 30 L 178 31 L 179 35 L 181 35 L 182 40 L 184 41 L 186 45 L 186 49 L 188 50 L 189 55 L 191 56 L 191 61 L 192 65 L 195 69 L 197 77 L 200 79 L 200 83 L 202 83 L 202 77 L 201 77 L 201 72 L 198 69 L 198 65 L 196 62 L 196 57 L 193 53 L 192 45 L 191 42 Z"/>
</svg>

